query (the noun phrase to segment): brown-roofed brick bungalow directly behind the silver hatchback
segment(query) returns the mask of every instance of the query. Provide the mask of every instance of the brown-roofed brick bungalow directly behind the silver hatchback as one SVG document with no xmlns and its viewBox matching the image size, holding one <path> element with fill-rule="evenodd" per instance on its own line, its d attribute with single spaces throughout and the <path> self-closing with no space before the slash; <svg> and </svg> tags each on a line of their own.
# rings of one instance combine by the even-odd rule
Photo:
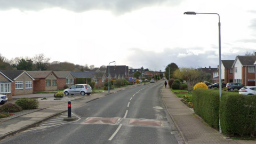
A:
<svg viewBox="0 0 256 144">
<path fill-rule="evenodd" d="M 57 85 L 59 90 L 65 89 L 65 85 L 68 87 L 74 85 L 76 78 L 71 71 L 53 71 L 53 73 L 58 77 Z"/>
</svg>

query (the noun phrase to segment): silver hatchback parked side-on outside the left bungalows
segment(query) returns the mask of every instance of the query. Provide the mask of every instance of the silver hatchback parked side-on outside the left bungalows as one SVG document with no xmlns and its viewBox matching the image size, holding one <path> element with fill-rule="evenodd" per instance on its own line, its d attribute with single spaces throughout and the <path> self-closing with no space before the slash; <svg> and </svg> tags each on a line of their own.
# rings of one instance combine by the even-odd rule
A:
<svg viewBox="0 0 256 144">
<path fill-rule="evenodd" d="M 63 91 L 65 95 L 74 95 L 74 94 L 81 94 L 81 95 L 90 95 L 92 93 L 92 87 L 89 84 L 76 84 L 69 89 Z"/>
</svg>

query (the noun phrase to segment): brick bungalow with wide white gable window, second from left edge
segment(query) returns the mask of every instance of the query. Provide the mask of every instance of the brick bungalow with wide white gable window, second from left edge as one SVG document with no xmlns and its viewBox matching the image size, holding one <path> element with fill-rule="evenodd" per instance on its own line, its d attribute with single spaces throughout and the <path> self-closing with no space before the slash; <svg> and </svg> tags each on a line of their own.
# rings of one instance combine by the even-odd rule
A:
<svg viewBox="0 0 256 144">
<path fill-rule="evenodd" d="M 25 70 L 2 70 L 7 76 L 12 78 L 12 96 L 33 93 L 34 78 Z"/>
</svg>

